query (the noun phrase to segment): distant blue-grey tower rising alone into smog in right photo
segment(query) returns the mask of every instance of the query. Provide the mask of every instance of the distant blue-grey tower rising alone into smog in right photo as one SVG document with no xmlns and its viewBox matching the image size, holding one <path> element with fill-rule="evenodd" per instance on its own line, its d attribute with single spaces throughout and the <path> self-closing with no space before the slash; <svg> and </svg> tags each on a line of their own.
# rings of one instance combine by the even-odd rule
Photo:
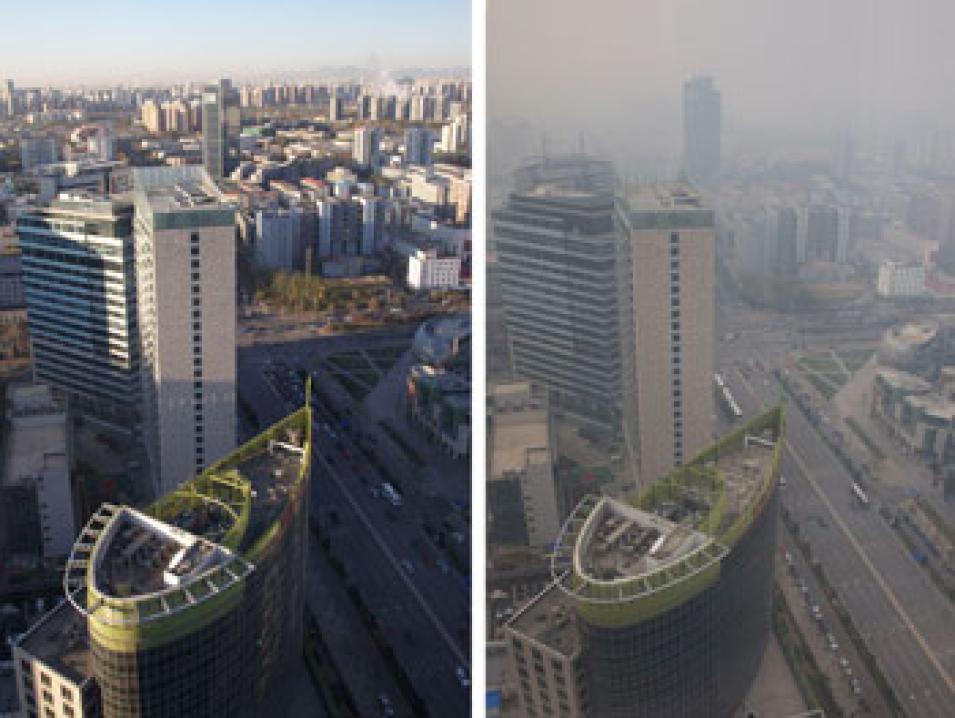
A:
<svg viewBox="0 0 955 718">
<path fill-rule="evenodd" d="M 689 179 L 702 187 L 719 181 L 720 105 L 713 78 L 694 77 L 683 85 L 683 166 Z"/>
</svg>

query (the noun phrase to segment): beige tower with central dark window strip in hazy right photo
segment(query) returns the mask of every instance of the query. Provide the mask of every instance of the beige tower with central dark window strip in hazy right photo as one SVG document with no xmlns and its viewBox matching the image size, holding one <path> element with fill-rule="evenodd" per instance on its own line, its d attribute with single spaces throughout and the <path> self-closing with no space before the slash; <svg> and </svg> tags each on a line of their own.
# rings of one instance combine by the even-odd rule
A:
<svg viewBox="0 0 955 718">
<path fill-rule="evenodd" d="M 685 187 L 647 186 L 620 202 L 620 217 L 633 272 L 636 431 L 632 417 L 627 430 L 647 483 L 712 436 L 713 210 Z"/>
</svg>

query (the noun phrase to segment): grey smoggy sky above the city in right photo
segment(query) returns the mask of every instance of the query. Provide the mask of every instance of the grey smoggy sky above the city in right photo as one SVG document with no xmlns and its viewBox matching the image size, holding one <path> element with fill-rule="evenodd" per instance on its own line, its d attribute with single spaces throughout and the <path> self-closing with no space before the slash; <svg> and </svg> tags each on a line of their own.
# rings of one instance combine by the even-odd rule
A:
<svg viewBox="0 0 955 718">
<path fill-rule="evenodd" d="M 955 118 L 953 0 L 488 6 L 492 120 L 677 141 L 682 84 L 693 74 L 715 78 L 729 132 L 889 132 Z"/>
</svg>

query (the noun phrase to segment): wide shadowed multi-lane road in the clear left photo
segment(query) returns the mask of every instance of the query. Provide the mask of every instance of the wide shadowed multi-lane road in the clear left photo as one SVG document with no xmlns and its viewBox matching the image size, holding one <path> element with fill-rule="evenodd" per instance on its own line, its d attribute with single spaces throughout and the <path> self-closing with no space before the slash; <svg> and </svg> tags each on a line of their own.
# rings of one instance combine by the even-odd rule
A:
<svg viewBox="0 0 955 718">
<path fill-rule="evenodd" d="M 309 347 L 281 345 L 240 353 L 241 393 L 263 424 L 294 408 L 267 367 L 307 367 L 311 355 Z M 353 437 L 337 426 L 329 407 L 314 408 L 311 508 L 330 537 L 331 554 L 344 565 L 429 714 L 468 715 L 470 690 L 455 669 L 469 672 L 469 588 L 424 533 L 427 497 L 412 477 L 402 477 L 401 505 L 391 505 L 381 495 L 382 477 Z M 382 685 L 381 691 L 390 689 Z"/>
</svg>

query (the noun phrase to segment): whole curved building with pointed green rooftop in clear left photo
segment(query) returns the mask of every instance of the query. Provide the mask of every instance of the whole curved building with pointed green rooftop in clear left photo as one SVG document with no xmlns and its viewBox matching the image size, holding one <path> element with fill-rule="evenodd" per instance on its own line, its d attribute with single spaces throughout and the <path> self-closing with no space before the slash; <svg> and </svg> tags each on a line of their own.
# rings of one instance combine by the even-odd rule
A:
<svg viewBox="0 0 955 718">
<path fill-rule="evenodd" d="M 145 510 L 103 504 L 13 649 L 23 715 L 288 715 L 310 462 L 305 406 Z"/>
</svg>

